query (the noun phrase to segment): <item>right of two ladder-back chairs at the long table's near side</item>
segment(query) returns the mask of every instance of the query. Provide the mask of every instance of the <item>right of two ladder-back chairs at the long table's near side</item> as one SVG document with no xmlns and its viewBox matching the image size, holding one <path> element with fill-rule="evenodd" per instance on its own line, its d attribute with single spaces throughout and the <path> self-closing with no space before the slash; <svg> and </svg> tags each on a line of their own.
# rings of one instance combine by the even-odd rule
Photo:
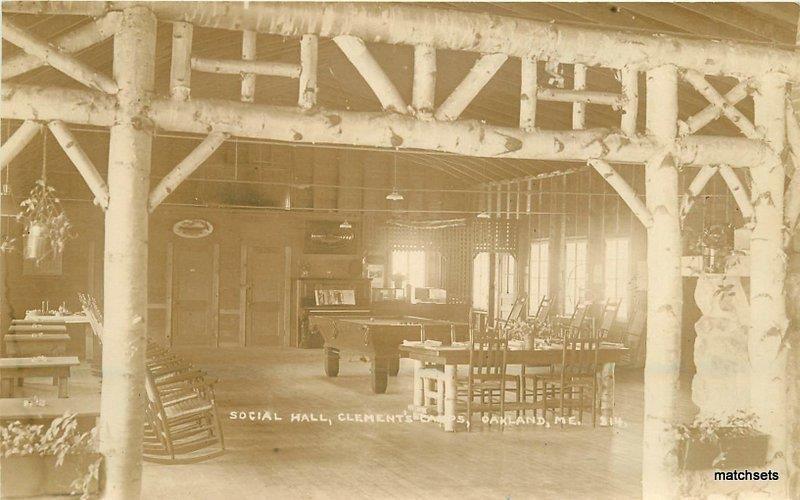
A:
<svg viewBox="0 0 800 500">
<path fill-rule="evenodd" d="M 580 333 L 565 337 L 561 364 L 552 373 L 531 377 L 531 394 L 540 398 L 545 416 L 548 410 L 559 412 L 562 427 L 574 410 L 578 411 L 581 423 L 583 412 L 591 410 L 592 426 L 597 426 L 597 355 L 600 340 L 595 335 Z"/>
</svg>

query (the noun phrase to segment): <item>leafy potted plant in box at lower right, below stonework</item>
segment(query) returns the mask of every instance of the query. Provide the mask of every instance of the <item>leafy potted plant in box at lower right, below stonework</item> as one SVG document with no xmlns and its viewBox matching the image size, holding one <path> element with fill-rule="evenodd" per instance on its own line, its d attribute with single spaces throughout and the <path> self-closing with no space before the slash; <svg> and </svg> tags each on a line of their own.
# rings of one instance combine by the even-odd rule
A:
<svg viewBox="0 0 800 500">
<path fill-rule="evenodd" d="M 756 423 L 754 414 L 740 410 L 724 423 L 711 417 L 678 426 L 679 468 L 734 469 L 764 465 L 769 436 L 758 431 Z"/>
</svg>

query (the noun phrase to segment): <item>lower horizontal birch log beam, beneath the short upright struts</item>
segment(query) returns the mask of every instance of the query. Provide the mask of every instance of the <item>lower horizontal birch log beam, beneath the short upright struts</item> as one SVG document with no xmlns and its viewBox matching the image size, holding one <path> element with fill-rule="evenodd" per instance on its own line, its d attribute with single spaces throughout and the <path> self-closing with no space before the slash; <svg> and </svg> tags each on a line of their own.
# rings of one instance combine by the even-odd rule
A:
<svg viewBox="0 0 800 500">
<path fill-rule="evenodd" d="M 115 120 L 116 100 L 98 92 L 6 84 L 0 94 L 4 119 L 64 120 L 100 127 Z M 652 137 L 630 138 L 610 129 L 524 132 L 476 120 L 426 122 L 398 113 L 309 112 L 218 99 L 154 98 L 149 118 L 157 128 L 203 136 L 217 131 L 294 144 L 416 149 L 484 158 L 644 163 L 664 148 Z M 676 161 L 686 166 L 752 167 L 776 156 L 764 142 L 743 137 L 687 136 L 669 147 Z"/>
</svg>

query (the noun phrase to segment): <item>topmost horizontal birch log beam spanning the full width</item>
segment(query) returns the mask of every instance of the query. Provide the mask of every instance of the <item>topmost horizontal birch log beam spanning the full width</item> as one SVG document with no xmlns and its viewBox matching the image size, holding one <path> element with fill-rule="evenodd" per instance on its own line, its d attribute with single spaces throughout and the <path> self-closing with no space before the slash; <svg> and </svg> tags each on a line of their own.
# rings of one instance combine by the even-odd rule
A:
<svg viewBox="0 0 800 500">
<path fill-rule="evenodd" d="M 100 17 L 130 5 L 6 1 L 3 12 Z M 367 43 L 431 45 L 437 49 L 503 53 L 616 69 L 638 66 L 644 71 L 671 64 L 704 75 L 737 77 L 776 71 L 800 81 L 800 58 L 795 51 L 732 41 L 710 43 L 689 37 L 652 36 L 410 5 L 154 2 L 149 8 L 162 21 L 208 28 L 281 36 L 351 35 Z"/>
</svg>

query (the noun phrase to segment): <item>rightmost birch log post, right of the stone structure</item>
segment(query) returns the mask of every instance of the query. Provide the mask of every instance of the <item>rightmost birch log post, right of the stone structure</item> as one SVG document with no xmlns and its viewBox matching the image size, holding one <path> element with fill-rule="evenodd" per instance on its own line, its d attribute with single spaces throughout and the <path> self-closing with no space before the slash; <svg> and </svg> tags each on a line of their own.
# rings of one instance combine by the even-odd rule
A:
<svg viewBox="0 0 800 500">
<path fill-rule="evenodd" d="M 757 81 L 753 96 L 755 124 L 770 147 L 786 145 L 786 79 L 771 73 Z M 788 357 L 784 348 L 787 328 L 786 255 L 783 246 L 783 161 L 768 158 L 750 170 L 754 227 L 750 240 L 750 401 L 761 430 L 770 436 L 768 465 L 787 474 Z"/>
</svg>

